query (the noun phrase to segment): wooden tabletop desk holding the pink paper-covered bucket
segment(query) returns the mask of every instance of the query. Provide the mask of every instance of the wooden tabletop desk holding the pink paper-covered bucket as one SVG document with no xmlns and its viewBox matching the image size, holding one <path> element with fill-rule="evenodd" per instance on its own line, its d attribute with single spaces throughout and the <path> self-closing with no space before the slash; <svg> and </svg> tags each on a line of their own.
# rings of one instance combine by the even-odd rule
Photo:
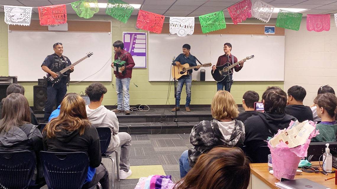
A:
<svg viewBox="0 0 337 189">
<path fill-rule="evenodd" d="M 319 163 L 312 162 L 312 166 L 319 167 Z M 279 189 L 275 186 L 275 183 L 279 182 L 268 171 L 268 163 L 251 163 L 250 164 L 250 183 L 248 189 Z M 334 169 L 334 168 L 333 168 Z M 309 179 L 331 189 L 337 189 L 335 185 L 335 179 L 325 181 L 324 179 L 335 176 L 334 173 L 323 175 L 321 173 L 302 173 L 302 175 L 296 175 L 295 179 Z"/>
</svg>

